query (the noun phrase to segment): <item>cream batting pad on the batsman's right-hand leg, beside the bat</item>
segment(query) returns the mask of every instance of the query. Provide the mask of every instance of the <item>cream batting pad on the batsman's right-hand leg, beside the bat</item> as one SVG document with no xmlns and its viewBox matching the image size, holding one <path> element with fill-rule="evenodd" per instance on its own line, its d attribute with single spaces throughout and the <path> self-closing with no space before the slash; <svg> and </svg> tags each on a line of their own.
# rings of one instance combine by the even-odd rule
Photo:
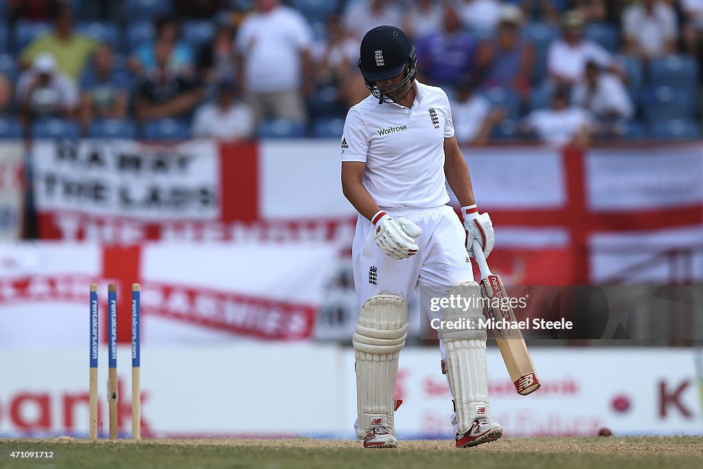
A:
<svg viewBox="0 0 703 469">
<path fill-rule="evenodd" d="M 444 373 L 449 381 L 449 388 L 454 397 L 457 430 L 469 431 L 473 420 L 478 417 L 491 416 L 488 397 L 488 376 L 486 373 L 486 330 L 480 329 L 483 308 L 480 302 L 481 290 L 476 282 L 465 282 L 449 291 L 449 295 L 464 299 L 477 298 L 473 306 L 447 308 L 443 321 L 464 319 L 472 323 L 473 329 L 439 330 L 439 335 L 446 348 Z"/>
</svg>

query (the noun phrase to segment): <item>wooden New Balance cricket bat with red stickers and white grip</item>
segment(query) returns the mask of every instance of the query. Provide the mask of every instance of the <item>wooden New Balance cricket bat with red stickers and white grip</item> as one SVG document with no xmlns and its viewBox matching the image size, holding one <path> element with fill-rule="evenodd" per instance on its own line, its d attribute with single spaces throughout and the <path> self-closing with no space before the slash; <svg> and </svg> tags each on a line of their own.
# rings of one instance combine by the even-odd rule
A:
<svg viewBox="0 0 703 469">
<path fill-rule="evenodd" d="M 505 286 L 501 276 L 491 273 L 481 245 L 477 240 L 474 240 L 473 248 L 479 271 L 481 271 L 481 281 L 479 282 L 481 296 L 484 298 L 484 307 L 489 319 L 493 321 L 515 321 L 515 314 L 513 314 L 507 300 L 503 303 L 502 309 L 501 307 L 492 306 L 496 304 L 494 298 L 507 298 L 508 295 L 505 293 Z M 520 329 L 496 328 L 494 329 L 494 335 L 496 336 L 498 349 L 501 350 L 501 355 L 503 355 L 505 368 L 508 368 L 510 380 L 515 385 L 515 392 L 527 396 L 527 394 L 538 390 L 541 383 Z"/>
</svg>

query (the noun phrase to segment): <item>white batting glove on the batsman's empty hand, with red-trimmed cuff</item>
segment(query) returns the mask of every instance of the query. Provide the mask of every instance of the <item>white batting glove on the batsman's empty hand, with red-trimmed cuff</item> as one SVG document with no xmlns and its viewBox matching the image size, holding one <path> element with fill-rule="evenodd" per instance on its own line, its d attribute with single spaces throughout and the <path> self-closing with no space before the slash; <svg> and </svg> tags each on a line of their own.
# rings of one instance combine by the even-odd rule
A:
<svg viewBox="0 0 703 469">
<path fill-rule="evenodd" d="M 423 230 L 412 221 L 399 218 L 394 220 L 389 214 L 380 210 L 371 220 L 376 227 L 373 239 L 378 247 L 393 259 L 406 259 L 418 252 L 418 238 Z"/>
</svg>

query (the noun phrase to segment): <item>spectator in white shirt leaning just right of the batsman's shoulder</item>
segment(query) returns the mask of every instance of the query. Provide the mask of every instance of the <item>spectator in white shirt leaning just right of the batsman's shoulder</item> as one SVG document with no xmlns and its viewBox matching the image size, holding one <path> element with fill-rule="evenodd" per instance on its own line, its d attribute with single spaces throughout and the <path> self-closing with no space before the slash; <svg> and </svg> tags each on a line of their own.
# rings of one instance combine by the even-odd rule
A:
<svg viewBox="0 0 703 469">
<path fill-rule="evenodd" d="M 491 108 L 491 103 L 475 92 L 471 81 L 460 84 L 456 91 L 456 101 L 451 105 L 456 139 L 459 143 L 484 145 L 505 112 Z"/>
</svg>

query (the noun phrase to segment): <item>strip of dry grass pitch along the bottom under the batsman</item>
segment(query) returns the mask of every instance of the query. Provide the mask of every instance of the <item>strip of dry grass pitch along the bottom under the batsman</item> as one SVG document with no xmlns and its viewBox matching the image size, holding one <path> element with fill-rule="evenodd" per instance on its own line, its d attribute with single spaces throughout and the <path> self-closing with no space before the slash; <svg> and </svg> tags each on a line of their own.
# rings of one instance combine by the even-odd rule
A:
<svg viewBox="0 0 703 469">
<path fill-rule="evenodd" d="M 0 468 L 701 468 L 702 437 L 503 438 L 472 449 L 401 441 L 398 449 L 340 440 L 0 439 Z M 55 451 L 53 459 L 11 451 Z"/>
</svg>

